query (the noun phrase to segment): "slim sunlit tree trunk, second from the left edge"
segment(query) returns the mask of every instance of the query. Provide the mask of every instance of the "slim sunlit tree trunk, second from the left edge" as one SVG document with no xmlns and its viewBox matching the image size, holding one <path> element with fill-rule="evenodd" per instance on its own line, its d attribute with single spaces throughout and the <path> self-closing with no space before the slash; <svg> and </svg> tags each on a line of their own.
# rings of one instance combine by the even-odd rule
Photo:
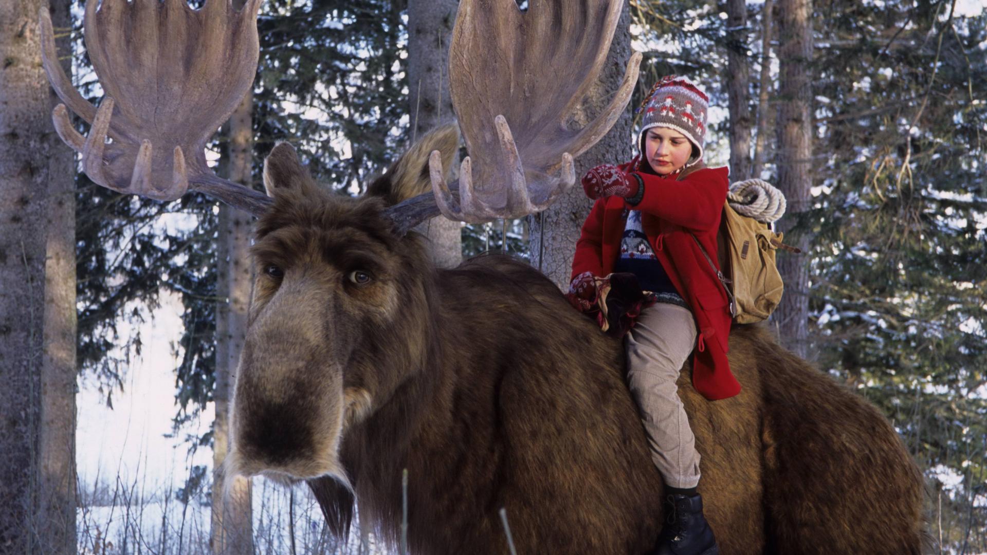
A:
<svg viewBox="0 0 987 555">
<path fill-rule="evenodd" d="M 51 21 L 71 74 L 72 18 L 69 0 L 55 0 Z M 60 101 L 48 91 L 50 108 Z M 76 552 L 75 511 L 75 154 L 53 132 L 46 136 L 48 199 L 45 217 L 44 312 L 38 427 L 39 550 L 51 555 Z"/>
</svg>

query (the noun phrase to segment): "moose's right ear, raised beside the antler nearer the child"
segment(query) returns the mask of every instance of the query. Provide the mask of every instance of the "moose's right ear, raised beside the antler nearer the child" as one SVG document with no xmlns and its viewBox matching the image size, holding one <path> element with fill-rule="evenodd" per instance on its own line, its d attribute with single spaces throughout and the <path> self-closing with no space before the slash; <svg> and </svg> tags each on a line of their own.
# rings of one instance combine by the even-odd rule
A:
<svg viewBox="0 0 987 555">
<path fill-rule="evenodd" d="M 459 151 L 459 125 L 448 123 L 428 131 L 397 162 L 391 164 L 387 173 L 367 187 L 367 196 L 381 197 L 388 204 L 397 204 L 431 191 L 428 156 L 433 150 L 442 154 L 442 168 L 448 179 L 449 169 Z"/>
</svg>

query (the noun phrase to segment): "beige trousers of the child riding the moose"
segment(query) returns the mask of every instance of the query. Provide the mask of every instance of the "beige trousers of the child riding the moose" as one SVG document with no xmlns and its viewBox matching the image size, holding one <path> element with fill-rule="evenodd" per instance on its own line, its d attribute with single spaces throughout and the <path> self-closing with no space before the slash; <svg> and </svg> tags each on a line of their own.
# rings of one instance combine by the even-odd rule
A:
<svg viewBox="0 0 987 555">
<path fill-rule="evenodd" d="M 645 424 L 651 460 L 665 484 L 699 484 L 699 453 L 675 380 L 696 345 L 692 312 L 659 302 L 642 311 L 624 339 L 627 383 Z"/>
</svg>

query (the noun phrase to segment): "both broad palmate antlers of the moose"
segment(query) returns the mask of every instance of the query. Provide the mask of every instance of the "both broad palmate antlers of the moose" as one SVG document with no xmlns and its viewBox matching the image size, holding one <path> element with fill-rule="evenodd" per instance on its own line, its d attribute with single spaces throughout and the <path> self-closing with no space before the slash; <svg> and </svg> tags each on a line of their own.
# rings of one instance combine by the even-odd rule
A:
<svg viewBox="0 0 987 555">
<path fill-rule="evenodd" d="M 92 123 L 89 136 L 82 136 L 59 105 L 55 128 L 82 153 L 93 181 L 163 200 L 192 189 L 255 215 L 266 210 L 269 198 L 218 178 L 204 156 L 206 141 L 253 82 L 260 3 L 248 0 L 237 12 L 231 0 L 207 0 L 200 10 L 185 0 L 103 0 L 99 9 L 88 2 L 86 44 L 107 93 L 99 110 L 57 64 L 51 20 L 40 11 L 48 79 L 62 101 Z M 434 196 L 387 211 L 399 231 L 439 212 L 471 222 L 520 216 L 545 209 L 571 187 L 572 157 L 610 129 L 638 78 L 641 54 L 635 53 L 609 106 L 587 124 L 573 125 L 606 59 L 622 4 L 531 0 L 522 13 L 514 0 L 460 3 L 449 88 L 471 157 L 463 160 L 460 183 L 447 186 L 433 153 Z M 450 192 L 457 188 L 459 198 Z"/>
</svg>

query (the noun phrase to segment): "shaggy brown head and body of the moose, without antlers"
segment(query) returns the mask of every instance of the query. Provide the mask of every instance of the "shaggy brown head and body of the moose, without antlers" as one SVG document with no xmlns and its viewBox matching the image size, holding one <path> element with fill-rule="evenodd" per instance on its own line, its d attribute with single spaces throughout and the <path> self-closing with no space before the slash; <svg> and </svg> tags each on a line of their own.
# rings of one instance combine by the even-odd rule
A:
<svg viewBox="0 0 987 555">
<path fill-rule="evenodd" d="M 652 547 L 662 484 L 620 342 L 521 262 L 436 271 L 380 199 L 321 193 L 278 148 L 230 471 L 307 480 L 340 533 L 355 495 L 394 540 L 407 468 L 414 553 L 507 552 L 500 508 L 525 555 Z M 679 380 L 721 553 L 919 553 L 922 478 L 884 418 L 764 328 L 730 348 L 740 395 Z"/>
</svg>

